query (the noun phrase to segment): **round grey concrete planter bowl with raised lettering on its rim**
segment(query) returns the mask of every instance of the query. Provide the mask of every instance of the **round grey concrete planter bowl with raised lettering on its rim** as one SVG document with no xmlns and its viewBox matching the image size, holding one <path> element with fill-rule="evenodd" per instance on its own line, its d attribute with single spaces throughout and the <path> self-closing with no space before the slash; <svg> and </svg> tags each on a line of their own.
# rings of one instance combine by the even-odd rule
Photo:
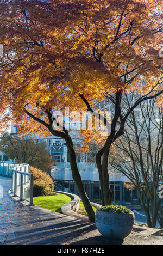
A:
<svg viewBox="0 0 163 256">
<path fill-rule="evenodd" d="M 123 239 L 131 233 L 134 218 L 134 212 L 131 214 L 114 214 L 97 210 L 96 227 L 99 233 L 109 239 Z"/>
</svg>

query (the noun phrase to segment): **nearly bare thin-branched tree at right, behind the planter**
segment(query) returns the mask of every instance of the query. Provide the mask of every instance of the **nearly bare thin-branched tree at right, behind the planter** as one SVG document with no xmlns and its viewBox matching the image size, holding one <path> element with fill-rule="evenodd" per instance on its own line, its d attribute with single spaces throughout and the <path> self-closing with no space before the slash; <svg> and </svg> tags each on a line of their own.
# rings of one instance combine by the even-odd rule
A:
<svg viewBox="0 0 163 256">
<path fill-rule="evenodd" d="M 124 95 L 123 109 L 130 109 L 132 101 L 139 96 L 136 93 Z M 163 113 L 152 99 L 144 101 L 139 109 L 130 113 L 124 135 L 114 143 L 109 163 L 134 185 L 147 216 L 148 227 L 153 228 L 161 210 L 161 198 L 157 191 L 161 182 L 162 162 Z"/>
</svg>

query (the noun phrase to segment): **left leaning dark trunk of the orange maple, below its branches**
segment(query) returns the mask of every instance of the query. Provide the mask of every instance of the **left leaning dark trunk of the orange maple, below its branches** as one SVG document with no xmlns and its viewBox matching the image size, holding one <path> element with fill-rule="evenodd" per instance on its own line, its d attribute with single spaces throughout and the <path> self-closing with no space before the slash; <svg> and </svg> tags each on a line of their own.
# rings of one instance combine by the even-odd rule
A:
<svg viewBox="0 0 163 256">
<path fill-rule="evenodd" d="M 68 136 L 66 139 L 67 147 L 68 147 L 68 153 L 70 156 L 70 165 L 71 165 L 71 171 L 72 171 L 72 177 L 74 180 L 74 183 L 77 187 L 78 193 L 80 198 L 82 199 L 82 202 L 84 204 L 85 210 L 87 212 L 87 215 L 89 217 L 89 221 L 95 222 L 95 212 L 93 211 L 93 208 L 91 206 L 90 200 L 87 197 L 87 194 L 84 190 L 82 178 L 79 174 L 77 161 L 76 161 L 76 153 L 73 148 L 73 143 L 71 141 L 71 138 Z"/>
</svg>

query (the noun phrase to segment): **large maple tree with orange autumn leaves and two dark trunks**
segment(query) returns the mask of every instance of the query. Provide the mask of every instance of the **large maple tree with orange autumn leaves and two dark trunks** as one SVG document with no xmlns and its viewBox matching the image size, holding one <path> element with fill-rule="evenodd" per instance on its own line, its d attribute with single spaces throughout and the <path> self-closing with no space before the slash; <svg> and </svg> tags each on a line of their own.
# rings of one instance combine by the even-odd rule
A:
<svg viewBox="0 0 163 256">
<path fill-rule="evenodd" d="M 89 219 L 95 214 L 79 175 L 69 131 L 54 130 L 52 113 L 65 107 L 93 112 L 114 103 L 111 133 L 96 155 L 102 204 L 111 204 L 108 158 L 112 143 L 143 100 L 162 102 L 161 7 L 159 0 L 0 1 L 2 126 L 64 138 L 71 170 Z M 122 115 L 123 93 L 142 94 Z M 121 124 L 118 125 L 118 120 Z M 106 119 L 104 121 L 106 123 Z M 118 129 L 118 130 L 117 130 Z M 95 138 L 96 139 L 96 138 Z"/>
</svg>

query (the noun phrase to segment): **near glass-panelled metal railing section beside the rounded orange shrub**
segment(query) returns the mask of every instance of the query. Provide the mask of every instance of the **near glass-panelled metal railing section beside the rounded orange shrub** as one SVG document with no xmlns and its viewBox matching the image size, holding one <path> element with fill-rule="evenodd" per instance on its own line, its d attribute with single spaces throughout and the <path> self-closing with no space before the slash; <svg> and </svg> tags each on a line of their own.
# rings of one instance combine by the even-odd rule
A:
<svg viewBox="0 0 163 256">
<path fill-rule="evenodd" d="M 12 169 L 12 193 L 33 205 L 33 174 L 29 173 L 29 165 L 17 166 Z"/>
</svg>

